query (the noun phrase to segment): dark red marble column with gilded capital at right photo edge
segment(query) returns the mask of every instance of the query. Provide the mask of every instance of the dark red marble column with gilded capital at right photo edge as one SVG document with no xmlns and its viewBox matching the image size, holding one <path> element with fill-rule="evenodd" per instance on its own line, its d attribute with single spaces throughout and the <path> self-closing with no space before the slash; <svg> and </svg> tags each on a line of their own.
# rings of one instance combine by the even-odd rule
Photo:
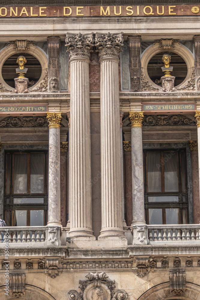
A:
<svg viewBox="0 0 200 300">
<path fill-rule="evenodd" d="M 189 147 L 191 151 L 191 167 L 192 167 L 193 223 L 199 224 L 200 200 L 199 200 L 199 160 L 198 160 L 197 141 L 189 141 Z"/>
</svg>

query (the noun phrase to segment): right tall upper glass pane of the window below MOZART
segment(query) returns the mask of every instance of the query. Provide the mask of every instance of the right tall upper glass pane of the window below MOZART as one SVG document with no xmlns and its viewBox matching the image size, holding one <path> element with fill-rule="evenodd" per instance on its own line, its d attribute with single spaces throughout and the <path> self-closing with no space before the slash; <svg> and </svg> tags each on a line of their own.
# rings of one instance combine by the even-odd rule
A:
<svg viewBox="0 0 200 300">
<path fill-rule="evenodd" d="M 44 193 L 44 153 L 31 154 L 31 194 Z"/>
</svg>

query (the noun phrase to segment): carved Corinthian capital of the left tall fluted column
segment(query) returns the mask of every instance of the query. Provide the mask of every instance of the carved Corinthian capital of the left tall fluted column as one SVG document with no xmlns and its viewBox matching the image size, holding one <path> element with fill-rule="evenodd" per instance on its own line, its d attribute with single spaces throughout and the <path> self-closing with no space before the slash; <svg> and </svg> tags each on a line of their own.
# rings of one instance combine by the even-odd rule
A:
<svg viewBox="0 0 200 300">
<path fill-rule="evenodd" d="M 81 34 L 66 33 L 67 52 L 70 53 L 70 58 L 85 57 L 90 59 L 90 52 L 94 46 L 93 32 Z"/>
</svg>

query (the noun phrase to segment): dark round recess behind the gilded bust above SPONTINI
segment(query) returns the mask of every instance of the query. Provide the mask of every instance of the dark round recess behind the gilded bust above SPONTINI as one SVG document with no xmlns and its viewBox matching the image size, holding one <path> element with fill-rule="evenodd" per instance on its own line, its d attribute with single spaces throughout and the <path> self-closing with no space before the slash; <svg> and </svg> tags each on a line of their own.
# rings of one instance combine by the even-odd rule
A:
<svg viewBox="0 0 200 300">
<path fill-rule="evenodd" d="M 187 64 L 184 59 L 174 52 L 159 52 L 155 54 L 147 65 L 147 72 L 150 79 L 157 85 L 161 86 L 160 78 L 164 76 L 164 72 L 161 67 L 164 66 L 162 57 L 163 54 L 171 55 L 170 66 L 173 67 L 173 71 L 171 71 L 171 75 L 175 76 L 175 86 L 181 84 L 187 76 Z"/>
</svg>

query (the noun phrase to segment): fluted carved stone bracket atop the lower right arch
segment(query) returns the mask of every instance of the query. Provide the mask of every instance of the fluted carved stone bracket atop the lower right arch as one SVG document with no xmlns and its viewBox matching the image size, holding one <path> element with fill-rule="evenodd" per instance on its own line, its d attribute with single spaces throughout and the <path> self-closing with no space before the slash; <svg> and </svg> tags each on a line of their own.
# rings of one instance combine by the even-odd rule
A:
<svg viewBox="0 0 200 300">
<path fill-rule="evenodd" d="M 185 271 L 169 272 L 170 292 L 173 295 L 180 295 L 185 292 L 185 277 Z"/>
</svg>

